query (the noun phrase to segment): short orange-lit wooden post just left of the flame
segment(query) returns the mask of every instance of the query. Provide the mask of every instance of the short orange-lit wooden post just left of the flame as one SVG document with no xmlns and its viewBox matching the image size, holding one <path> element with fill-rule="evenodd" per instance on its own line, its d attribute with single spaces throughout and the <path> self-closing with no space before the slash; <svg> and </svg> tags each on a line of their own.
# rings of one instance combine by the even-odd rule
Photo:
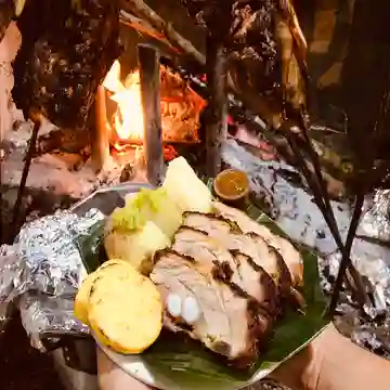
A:
<svg viewBox="0 0 390 390">
<path fill-rule="evenodd" d="M 95 121 L 92 136 L 92 165 L 100 172 L 109 160 L 109 130 L 107 126 L 107 113 L 105 89 L 99 86 L 95 100 Z"/>
</svg>

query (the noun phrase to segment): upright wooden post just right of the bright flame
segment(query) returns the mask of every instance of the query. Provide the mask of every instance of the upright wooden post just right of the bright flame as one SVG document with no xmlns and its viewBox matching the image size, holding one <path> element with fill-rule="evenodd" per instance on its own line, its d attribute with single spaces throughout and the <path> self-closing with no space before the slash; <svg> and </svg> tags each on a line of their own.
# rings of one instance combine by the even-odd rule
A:
<svg viewBox="0 0 390 390">
<path fill-rule="evenodd" d="M 161 183 L 164 150 L 161 134 L 161 103 L 159 53 L 148 44 L 139 44 L 141 101 L 144 115 L 144 155 L 147 181 Z"/>
</svg>

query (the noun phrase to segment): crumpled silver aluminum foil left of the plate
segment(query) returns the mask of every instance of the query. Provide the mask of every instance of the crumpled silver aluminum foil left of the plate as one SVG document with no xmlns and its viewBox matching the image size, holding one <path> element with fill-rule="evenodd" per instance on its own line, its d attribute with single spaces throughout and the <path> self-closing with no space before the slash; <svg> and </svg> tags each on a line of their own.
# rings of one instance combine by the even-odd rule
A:
<svg viewBox="0 0 390 390">
<path fill-rule="evenodd" d="M 0 302 L 20 297 L 22 321 L 36 347 L 42 332 L 88 332 L 74 317 L 74 298 L 86 274 L 86 245 L 88 256 L 99 249 L 90 237 L 98 237 L 91 233 L 104 220 L 98 209 L 81 217 L 58 211 L 26 223 L 14 245 L 1 247 Z"/>
</svg>

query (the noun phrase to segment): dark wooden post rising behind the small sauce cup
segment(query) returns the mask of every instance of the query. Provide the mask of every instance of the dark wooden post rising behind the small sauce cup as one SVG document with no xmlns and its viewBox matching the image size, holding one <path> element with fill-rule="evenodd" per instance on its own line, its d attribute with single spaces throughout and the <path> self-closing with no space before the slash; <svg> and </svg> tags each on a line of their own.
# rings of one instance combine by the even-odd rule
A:
<svg viewBox="0 0 390 390">
<path fill-rule="evenodd" d="M 207 38 L 207 86 L 209 102 L 206 116 L 207 176 L 221 170 L 221 147 L 227 135 L 226 54 L 222 42 Z"/>
</svg>

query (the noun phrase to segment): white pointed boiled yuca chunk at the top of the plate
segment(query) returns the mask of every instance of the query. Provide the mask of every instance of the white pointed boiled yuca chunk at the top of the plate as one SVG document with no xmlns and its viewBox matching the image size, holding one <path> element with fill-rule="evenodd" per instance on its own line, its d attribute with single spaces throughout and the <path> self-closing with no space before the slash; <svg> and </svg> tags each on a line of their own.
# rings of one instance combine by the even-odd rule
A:
<svg viewBox="0 0 390 390">
<path fill-rule="evenodd" d="M 182 211 L 211 211 L 211 193 L 183 157 L 169 162 L 162 184 Z"/>
</svg>

